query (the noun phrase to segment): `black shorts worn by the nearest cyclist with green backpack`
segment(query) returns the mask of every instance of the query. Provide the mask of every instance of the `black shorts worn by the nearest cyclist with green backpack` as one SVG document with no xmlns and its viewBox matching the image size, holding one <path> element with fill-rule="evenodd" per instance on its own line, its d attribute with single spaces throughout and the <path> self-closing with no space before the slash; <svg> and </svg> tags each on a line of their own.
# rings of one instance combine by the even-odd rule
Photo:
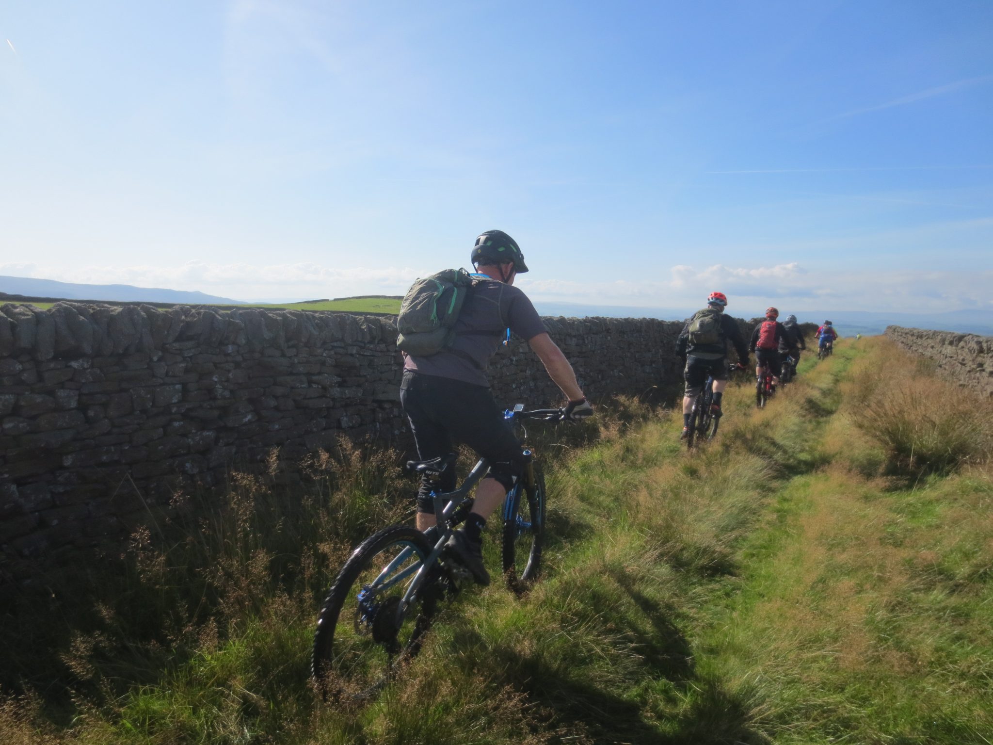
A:
<svg viewBox="0 0 993 745">
<path fill-rule="evenodd" d="M 404 371 L 400 403 L 410 421 L 417 457 L 422 461 L 455 452 L 454 438 L 490 461 L 490 477 L 507 490 L 522 473 L 520 443 L 490 388 Z M 450 468 L 442 475 L 439 488 L 451 492 L 455 486 L 455 470 Z M 423 480 L 417 499 L 419 512 L 434 512 L 430 491 L 427 480 Z"/>
</svg>

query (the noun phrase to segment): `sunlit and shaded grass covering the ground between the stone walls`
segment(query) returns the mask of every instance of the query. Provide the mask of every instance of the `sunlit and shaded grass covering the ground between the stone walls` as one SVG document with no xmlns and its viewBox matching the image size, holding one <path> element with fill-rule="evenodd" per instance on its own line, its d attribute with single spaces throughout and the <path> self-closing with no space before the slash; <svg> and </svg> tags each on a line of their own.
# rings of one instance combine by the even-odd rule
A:
<svg viewBox="0 0 993 745">
<path fill-rule="evenodd" d="M 0 742 L 988 742 L 993 478 L 975 459 L 891 472 L 858 417 L 862 373 L 894 354 L 839 342 L 764 410 L 732 384 L 694 453 L 630 402 L 539 435 L 544 581 L 462 593 L 362 707 L 315 700 L 312 624 L 412 485 L 347 445 L 293 493 L 238 477 L 208 522 L 22 601 Z"/>
</svg>

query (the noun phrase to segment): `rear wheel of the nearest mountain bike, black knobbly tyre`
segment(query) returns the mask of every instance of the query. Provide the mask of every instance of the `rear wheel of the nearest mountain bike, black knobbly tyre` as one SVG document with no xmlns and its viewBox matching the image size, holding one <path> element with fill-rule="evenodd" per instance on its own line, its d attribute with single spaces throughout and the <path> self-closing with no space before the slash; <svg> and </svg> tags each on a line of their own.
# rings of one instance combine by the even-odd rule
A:
<svg viewBox="0 0 993 745">
<path fill-rule="evenodd" d="M 311 655 L 324 697 L 368 698 L 418 653 L 439 583 L 429 577 L 401 606 L 431 548 L 419 530 L 393 525 L 362 541 L 342 567 L 318 615 Z"/>
</svg>

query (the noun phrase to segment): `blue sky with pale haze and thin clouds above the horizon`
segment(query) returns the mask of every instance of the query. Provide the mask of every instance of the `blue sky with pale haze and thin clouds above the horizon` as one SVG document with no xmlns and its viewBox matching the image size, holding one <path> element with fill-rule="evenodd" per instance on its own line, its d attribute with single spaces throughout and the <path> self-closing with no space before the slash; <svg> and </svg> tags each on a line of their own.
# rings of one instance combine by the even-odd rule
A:
<svg viewBox="0 0 993 745">
<path fill-rule="evenodd" d="M 993 308 L 993 3 L 0 5 L 0 274 Z"/>
</svg>

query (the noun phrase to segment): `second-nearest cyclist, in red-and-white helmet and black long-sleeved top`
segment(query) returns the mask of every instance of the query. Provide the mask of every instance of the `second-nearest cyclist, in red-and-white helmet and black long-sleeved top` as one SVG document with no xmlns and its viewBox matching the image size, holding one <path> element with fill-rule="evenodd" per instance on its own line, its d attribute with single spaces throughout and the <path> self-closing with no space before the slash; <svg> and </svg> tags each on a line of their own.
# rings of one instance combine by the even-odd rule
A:
<svg viewBox="0 0 993 745">
<path fill-rule="evenodd" d="M 686 394 L 683 396 L 682 438 L 689 435 L 689 417 L 693 413 L 693 399 L 703 391 L 708 375 L 714 378 L 714 400 L 710 409 L 714 416 L 721 415 L 721 398 L 728 384 L 728 341 L 738 353 L 738 370 L 748 367 L 748 348 L 742 338 L 738 323 L 724 315 L 728 298 L 723 292 L 707 296 L 707 307 L 693 314 L 683 326 L 676 340 L 676 355 L 686 361 L 683 377 Z"/>
</svg>

